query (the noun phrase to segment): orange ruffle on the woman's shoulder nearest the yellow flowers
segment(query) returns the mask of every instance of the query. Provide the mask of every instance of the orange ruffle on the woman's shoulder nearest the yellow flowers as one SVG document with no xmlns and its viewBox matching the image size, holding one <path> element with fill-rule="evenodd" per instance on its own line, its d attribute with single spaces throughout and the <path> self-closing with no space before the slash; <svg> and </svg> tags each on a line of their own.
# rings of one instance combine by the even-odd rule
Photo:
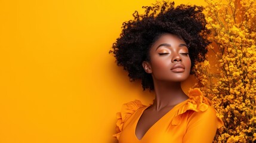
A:
<svg viewBox="0 0 256 143">
<path fill-rule="evenodd" d="M 186 113 L 186 111 L 188 110 L 193 110 L 197 112 L 205 111 L 209 108 L 209 106 L 211 106 L 211 101 L 203 96 L 199 88 L 190 89 L 188 96 L 189 100 L 187 101 L 187 103 L 177 111 L 176 116 L 172 119 L 172 125 L 179 125 L 181 121 L 180 115 Z M 218 122 L 217 128 L 221 128 L 224 123 L 223 120 L 221 120 L 221 117 L 217 111 L 216 117 Z"/>
</svg>

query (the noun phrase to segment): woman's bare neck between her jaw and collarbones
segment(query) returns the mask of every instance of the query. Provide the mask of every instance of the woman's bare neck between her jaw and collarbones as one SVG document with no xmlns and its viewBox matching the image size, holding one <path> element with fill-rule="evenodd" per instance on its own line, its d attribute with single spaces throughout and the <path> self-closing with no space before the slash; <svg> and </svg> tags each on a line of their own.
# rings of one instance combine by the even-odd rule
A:
<svg viewBox="0 0 256 143">
<path fill-rule="evenodd" d="M 174 107 L 188 99 L 181 88 L 181 82 L 165 82 L 154 80 L 156 98 L 153 107 L 161 110 L 164 107 Z"/>
</svg>

